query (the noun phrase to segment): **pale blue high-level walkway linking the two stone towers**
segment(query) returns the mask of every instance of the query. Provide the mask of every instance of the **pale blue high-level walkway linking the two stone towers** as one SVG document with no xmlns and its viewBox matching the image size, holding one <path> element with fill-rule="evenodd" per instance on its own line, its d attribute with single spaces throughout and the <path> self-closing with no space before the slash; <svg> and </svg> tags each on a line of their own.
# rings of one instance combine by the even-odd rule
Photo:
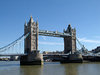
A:
<svg viewBox="0 0 100 75">
<path fill-rule="evenodd" d="M 69 33 L 61 33 L 61 32 L 58 32 L 58 31 L 48 31 L 48 30 L 39 30 L 39 35 L 53 36 L 53 37 L 71 36 Z"/>
</svg>

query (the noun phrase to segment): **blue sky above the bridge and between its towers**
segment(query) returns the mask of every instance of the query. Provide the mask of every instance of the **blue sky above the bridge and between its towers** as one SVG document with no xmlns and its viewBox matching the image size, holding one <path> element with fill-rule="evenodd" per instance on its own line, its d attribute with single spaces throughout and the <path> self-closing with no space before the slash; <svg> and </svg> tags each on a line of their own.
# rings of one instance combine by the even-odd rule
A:
<svg viewBox="0 0 100 75">
<path fill-rule="evenodd" d="M 40 30 L 63 32 L 71 24 L 88 50 L 100 46 L 100 0 L 0 0 L 0 47 L 24 33 L 31 15 Z M 39 36 L 41 51 L 63 51 L 63 43 L 63 38 Z"/>
</svg>

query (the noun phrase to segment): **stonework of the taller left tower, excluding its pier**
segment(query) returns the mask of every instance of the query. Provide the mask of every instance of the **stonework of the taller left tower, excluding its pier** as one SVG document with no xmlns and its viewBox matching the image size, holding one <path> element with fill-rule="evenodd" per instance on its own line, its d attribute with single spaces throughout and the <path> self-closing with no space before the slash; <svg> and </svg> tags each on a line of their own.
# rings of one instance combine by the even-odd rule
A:
<svg viewBox="0 0 100 75">
<path fill-rule="evenodd" d="M 25 23 L 24 34 L 29 34 L 25 39 L 25 53 L 38 50 L 38 22 L 31 17 L 28 24 Z"/>
</svg>

